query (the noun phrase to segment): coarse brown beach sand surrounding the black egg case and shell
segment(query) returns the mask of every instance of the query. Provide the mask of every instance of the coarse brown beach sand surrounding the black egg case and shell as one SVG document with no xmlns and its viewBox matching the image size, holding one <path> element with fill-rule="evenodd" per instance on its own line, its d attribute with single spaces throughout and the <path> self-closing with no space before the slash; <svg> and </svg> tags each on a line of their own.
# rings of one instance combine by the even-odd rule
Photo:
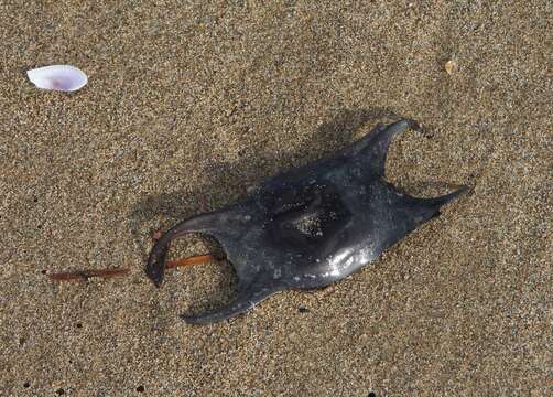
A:
<svg viewBox="0 0 553 397">
<path fill-rule="evenodd" d="M 87 3 L 0 2 L 0 395 L 553 393 L 551 1 Z M 153 230 L 399 116 L 388 178 L 474 192 L 372 266 L 209 326 L 230 265 L 145 278 Z"/>
</svg>

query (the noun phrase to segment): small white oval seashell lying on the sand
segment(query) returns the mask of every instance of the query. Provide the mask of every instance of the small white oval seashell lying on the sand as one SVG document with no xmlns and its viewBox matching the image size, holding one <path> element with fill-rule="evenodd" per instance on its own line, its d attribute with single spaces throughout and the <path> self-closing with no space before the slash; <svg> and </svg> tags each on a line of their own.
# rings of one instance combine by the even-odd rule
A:
<svg viewBox="0 0 553 397">
<path fill-rule="evenodd" d="M 74 92 L 88 83 L 83 71 L 71 65 L 52 65 L 26 72 L 29 79 L 39 88 Z"/>
</svg>

